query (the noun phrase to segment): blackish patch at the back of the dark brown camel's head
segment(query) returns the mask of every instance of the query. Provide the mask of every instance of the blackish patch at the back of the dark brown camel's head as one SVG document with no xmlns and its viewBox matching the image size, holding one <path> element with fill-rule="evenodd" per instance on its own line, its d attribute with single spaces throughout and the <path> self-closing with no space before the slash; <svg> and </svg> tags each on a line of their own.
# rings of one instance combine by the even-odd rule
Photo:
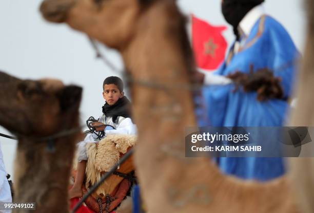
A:
<svg viewBox="0 0 314 213">
<path fill-rule="evenodd" d="M 67 86 L 58 93 L 60 108 L 62 112 L 78 108 L 82 98 L 82 88 L 77 86 Z"/>
</svg>

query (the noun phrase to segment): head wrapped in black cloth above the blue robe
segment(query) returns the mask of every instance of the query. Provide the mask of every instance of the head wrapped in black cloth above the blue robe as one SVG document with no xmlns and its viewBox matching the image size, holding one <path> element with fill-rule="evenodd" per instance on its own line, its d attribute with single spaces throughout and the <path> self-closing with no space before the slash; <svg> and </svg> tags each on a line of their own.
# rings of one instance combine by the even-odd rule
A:
<svg viewBox="0 0 314 213">
<path fill-rule="evenodd" d="M 242 18 L 255 6 L 264 0 L 222 0 L 222 13 L 226 21 L 236 31 Z"/>
</svg>

